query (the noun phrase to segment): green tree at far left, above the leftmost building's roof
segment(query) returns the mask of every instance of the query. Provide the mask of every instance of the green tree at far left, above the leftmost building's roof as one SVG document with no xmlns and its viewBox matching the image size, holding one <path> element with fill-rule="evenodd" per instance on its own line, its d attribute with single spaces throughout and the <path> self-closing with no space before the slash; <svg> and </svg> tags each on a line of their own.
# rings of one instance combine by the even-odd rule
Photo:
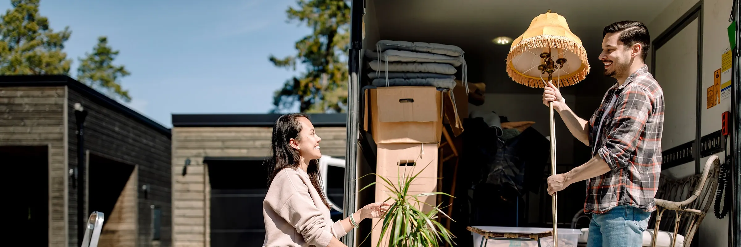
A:
<svg viewBox="0 0 741 247">
<path fill-rule="evenodd" d="M 0 75 L 67 74 L 72 61 L 64 42 L 72 32 L 54 32 L 39 15 L 39 0 L 12 0 L 13 8 L 0 16 Z"/>
</svg>

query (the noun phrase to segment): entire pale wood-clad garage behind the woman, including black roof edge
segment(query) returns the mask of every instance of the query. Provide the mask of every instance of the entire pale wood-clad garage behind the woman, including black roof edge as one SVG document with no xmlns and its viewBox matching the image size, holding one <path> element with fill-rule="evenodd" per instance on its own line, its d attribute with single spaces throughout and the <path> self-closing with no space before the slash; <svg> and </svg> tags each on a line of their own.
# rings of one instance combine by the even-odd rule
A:
<svg viewBox="0 0 741 247">
<path fill-rule="evenodd" d="M 279 114 L 173 114 L 173 246 L 261 246 L 263 162 Z M 324 160 L 344 167 L 347 115 L 310 114 Z M 328 165 L 325 188 L 342 207 L 345 169 Z M 333 210 L 333 218 L 342 212 Z"/>
</svg>

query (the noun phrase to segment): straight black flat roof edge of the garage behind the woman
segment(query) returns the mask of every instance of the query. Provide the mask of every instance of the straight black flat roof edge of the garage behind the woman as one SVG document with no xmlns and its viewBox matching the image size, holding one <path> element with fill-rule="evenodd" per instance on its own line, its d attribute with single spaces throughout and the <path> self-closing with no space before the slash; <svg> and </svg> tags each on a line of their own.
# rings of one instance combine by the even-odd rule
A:
<svg viewBox="0 0 741 247">
<path fill-rule="evenodd" d="M 273 127 L 283 114 L 172 114 L 173 127 Z M 315 127 L 346 127 L 347 113 L 308 114 Z"/>
</svg>

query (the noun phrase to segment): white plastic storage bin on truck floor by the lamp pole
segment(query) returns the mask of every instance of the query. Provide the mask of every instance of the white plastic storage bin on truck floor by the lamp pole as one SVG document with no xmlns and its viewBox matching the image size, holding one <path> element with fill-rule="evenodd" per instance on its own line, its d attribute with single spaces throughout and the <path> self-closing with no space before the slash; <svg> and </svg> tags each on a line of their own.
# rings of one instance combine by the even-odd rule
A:
<svg viewBox="0 0 741 247">
<path fill-rule="evenodd" d="M 528 228 L 528 227 L 503 227 L 503 226 L 473 226 L 475 228 L 482 229 L 484 231 L 493 231 L 499 233 L 524 233 L 524 234 L 537 234 L 545 231 L 551 231 L 553 228 Z M 582 231 L 579 229 L 571 228 L 558 228 L 558 246 L 559 247 L 576 247 L 579 241 L 579 235 Z M 473 236 L 473 246 L 481 247 L 482 235 L 475 232 L 471 232 Z M 554 237 L 543 237 L 540 240 L 541 247 L 553 247 Z M 487 240 L 484 243 L 486 247 L 538 247 L 538 241 L 528 239 L 513 239 L 513 240 Z"/>
</svg>

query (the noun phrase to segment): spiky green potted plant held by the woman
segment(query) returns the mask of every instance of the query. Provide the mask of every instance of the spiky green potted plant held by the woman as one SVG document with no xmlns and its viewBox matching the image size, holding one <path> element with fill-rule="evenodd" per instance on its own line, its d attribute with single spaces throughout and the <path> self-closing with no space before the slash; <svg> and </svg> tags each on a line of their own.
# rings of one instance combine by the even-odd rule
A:
<svg viewBox="0 0 741 247">
<path fill-rule="evenodd" d="M 416 162 L 416 161 L 415 161 Z M 429 166 L 428 164 L 427 166 Z M 425 166 L 425 168 L 427 168 Z M 425 170 L 422 168 L 422 171 Z M 411 171 L 410 174 L 402 174 L 399 171 L 397 174 L 398 180 L 396 183 L 391 182 L 387 178 L 379 174 L 368 174 L 375 175 L 383 180 L 386 184 L 384 185 L 388 191 L 391 191 L 391 197 L 388 197 L 384 202 L 393 200 L 393 204 L 388 208 L 387 213 L 383 217 L 381 225 L 381 239 L 385 239 L 388 236 L 389 247 L 408 247 L 408 246 L 435 246 L 438 247 L 440 242 L 448 243 L 453 246 L 453 234 L 448 231 L 437 219 L 437 215 L 443 215 L 448 219 L 451 219 L 448 214 L 445 214 L 440 208 L 440 205 L 430 205 L 427 202 L 419 200 L 419 197 L 429 197 L 435 195 L 445 195 L 452 197 L 449 194 L 443 192 L 430 192 L 410 195 L 408 194 L 409 187 L 411 186 L 414 179 L 416 179 L 422 171 L 414 174 Z M 414 175 L 412 175 L 414 174 Z M 368 176 L 365 175 L 365 176 Z M 365 177 L 363 176 L 363 177 Z M 362 178 L 362 177 L 361 177 Z M 365 186 L 360 191 L 365 190 L 373 185 L 378 185 L 376 182 L 372 182 L 370 185 Z M 421 206 L 428 205 L 432 209 L 430 211 L 421 211 L 418 208 Z M 452 219 L 451 219 L 452 220 Z M 373 226 L 375 228 L 375 225 Z M 381 246 L 382 241 L 376 244 Z"/>
</svg>

